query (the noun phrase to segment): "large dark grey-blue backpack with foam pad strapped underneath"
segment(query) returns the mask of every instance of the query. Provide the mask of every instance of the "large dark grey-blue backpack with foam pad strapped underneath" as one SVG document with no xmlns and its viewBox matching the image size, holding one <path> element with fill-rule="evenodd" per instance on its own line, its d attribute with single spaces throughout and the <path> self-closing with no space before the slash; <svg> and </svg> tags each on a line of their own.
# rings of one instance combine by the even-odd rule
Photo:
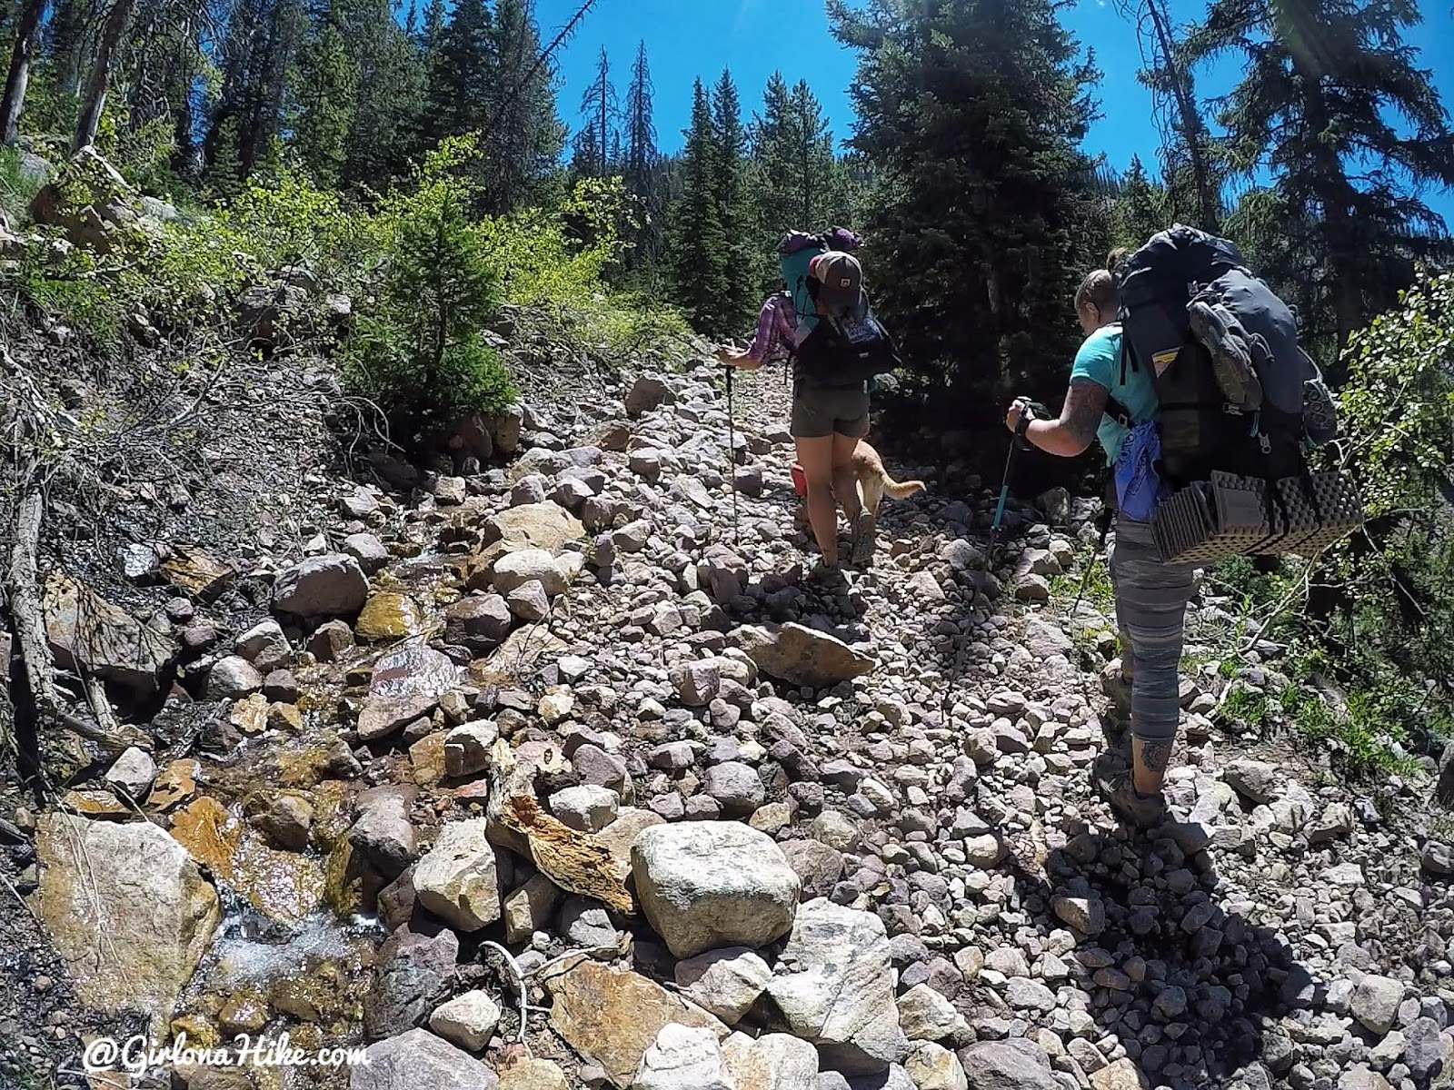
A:
<svg viewBox="0 0 1454 1090">
<path fill-rule="evenodd" d="M 1361 525 L 1351 478 L 1312 472 L 1335 437 L 1333 401 L 1297 343 L 1297 318 L 1226 238 L 1181 224 L 1117 270 L 1121 366 L 1160 403 L 1154 514 L 1168 561 L 1312 552 Z"/>
</svg>

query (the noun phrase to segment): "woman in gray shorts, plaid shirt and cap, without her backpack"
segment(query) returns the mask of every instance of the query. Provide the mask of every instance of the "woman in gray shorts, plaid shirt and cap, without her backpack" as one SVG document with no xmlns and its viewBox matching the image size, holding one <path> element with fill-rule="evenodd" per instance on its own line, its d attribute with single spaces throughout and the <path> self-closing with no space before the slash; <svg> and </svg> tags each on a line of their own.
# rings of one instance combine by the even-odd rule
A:
<svg viewBox="0 0 1454 1090">
<path fill-rule="evenodd" d="M 813 259 L 808 275 L 819 280 L 819 314 L 848 314 L 864 305 L 864 269 L 852 254 L 822 253 Z M 774 295 L 762 307 L 752 344 L 744 350 L 721 349 L 717 359 L 731 368 L 756 371 L 775 355 L 790 353 L 797 337 L 792 298 Z M 852 562 L 865 564 L 874 555 L 874 516 L 858 500 L 852 469 L 858 440 L 868 435 L 868 384 L 823 385 L 794 368 L 790 430 L 807 480 L 808 523 L 822 551 L 811 574 L 840 580 L 838 503 L 843 504 L 853 528 Z"/>
</svg>

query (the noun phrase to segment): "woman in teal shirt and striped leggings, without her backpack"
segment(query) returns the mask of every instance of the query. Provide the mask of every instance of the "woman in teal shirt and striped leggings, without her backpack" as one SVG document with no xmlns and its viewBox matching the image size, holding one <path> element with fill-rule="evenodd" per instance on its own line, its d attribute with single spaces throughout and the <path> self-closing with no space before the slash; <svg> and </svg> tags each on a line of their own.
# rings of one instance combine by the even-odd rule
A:
<svg viewBox="0 0 1454 1090">
<path fill-rule="evenodd" d="M 1105 269 L 1076 292 L 1076 317 L 1086 339 L 1070 368 L 1070 389 L 1059 420 L 1028 420 L 1016 401 L 1005 417 L 1011 432 L 1047 453 L 1075 458 L 1099 439 L 1117 464 L 1130 426 L 1156 420 L 1157 401 L 1144 368 L 1121 368 L 1115 278 Z M 1114 407 L 1117 417 L 1108 413 Z M 1130 424 L 1130 426 L 1128 426 Z M 1109 549 L 1115 616 L 1121 629 L 1121 677 L 1131 689 L 1131 769 L 1098 780 L 1111 807 L 1141 827 L 1165 817 L 1162 782 L 1181 719 L 1179 679 L 1191 567 L 1165 564 L 1152 525 L 1117 514 Z"/>
</svg>

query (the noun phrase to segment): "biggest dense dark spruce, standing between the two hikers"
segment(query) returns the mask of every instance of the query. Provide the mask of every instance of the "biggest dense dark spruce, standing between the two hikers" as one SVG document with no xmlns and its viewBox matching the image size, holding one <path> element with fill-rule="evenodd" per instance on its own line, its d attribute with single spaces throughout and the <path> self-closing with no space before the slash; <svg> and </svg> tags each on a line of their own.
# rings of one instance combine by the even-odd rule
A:
<svg viewBox="0 0 1454 1090">
<path fill-rule="evenodd" d="M 1012 394 L 1054 397 L 1072 296 L 1105 256 L 1079 151 L 1095 76 L 1054 0 L 830 3 L 859 51 L 852 145 L 880 177 L 865 209 L 875 307 L 960 426 Z M 986 432 L 993 435 L 993 432 Z"/>
</svg>

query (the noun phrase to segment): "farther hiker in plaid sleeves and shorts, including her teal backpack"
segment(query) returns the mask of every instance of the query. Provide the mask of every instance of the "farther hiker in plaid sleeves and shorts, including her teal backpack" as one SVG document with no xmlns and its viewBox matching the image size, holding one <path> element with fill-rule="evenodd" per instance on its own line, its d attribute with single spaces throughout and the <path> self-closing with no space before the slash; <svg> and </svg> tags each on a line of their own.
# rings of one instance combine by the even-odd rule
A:
<svg viewBox="0 0 1454 1090">
<path fill-rule="evenodd" d="M 858 235 L 845 228 L 822 235 L 790 231 L 778 247 L 787 288 L 763 304 L 758 337 L 747 349 L 717 353 L 726 366 L 746 371 L 779 353 L 792 362 L 790 432 L 820 551 L 810 577 L 830 583 L 843 580 L 839 503 L 852 528 L 852 562 L 862 565 L 874 555 L 874 516 L 859 503 L 852 459 L 868 435 L 868 381 L 899 363 L 893 340 L 869 310 L 864 269 L 849 253 L 858 247 Z"/>
</svg>

